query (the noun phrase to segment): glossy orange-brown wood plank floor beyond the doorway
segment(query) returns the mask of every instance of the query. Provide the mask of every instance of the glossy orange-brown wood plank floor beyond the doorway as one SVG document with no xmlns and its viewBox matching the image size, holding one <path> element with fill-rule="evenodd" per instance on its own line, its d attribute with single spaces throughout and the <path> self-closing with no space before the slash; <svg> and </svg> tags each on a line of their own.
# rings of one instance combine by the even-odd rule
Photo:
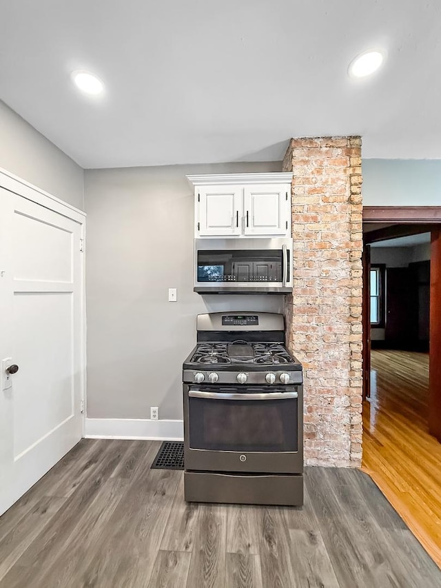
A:
<svg viewBox="0 0 441 588">
<path fill-rule="evenodd" d="M 376 349 L 362 469 L 441 567 L 441 445 L 429 435 L 429 356 Z"/>
</svg>

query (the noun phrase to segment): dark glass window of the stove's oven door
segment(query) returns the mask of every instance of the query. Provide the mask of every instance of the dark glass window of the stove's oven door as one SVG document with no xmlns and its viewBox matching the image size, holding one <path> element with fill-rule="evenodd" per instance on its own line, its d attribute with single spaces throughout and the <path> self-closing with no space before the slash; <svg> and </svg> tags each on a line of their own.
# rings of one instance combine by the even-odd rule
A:
<svg viewBox="0 0 441 588">
<path fill-rule="evenodd" d="M 246 396 L 246 394 L 244 394 Z M 189 399 L 189 447 L 225 452 L 296 452 L 297 400 Z"/>
</svg>

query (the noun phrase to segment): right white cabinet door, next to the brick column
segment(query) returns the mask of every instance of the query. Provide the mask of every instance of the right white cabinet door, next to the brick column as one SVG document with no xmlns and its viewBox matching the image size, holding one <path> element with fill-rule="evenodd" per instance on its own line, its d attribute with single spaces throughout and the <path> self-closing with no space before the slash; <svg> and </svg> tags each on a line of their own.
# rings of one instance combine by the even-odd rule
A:
<svg viewBox="0 0 441 588">
<path fill-rule="evenodd" d="M 245 235 L 289 236 L 289 193 L 290 187 L 280 184 L 245 186 Z"/>
</svg>

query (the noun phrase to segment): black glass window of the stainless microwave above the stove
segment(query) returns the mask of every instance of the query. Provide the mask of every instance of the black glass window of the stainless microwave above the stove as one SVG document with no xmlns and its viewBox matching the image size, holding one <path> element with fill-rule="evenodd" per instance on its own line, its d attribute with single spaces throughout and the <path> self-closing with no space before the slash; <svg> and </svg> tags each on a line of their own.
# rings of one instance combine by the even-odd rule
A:
<svg viewBox="0 0 441 588">
<path fill-rule="evenodd" d="M 198 251 L 198 282 L 282 282 L 283 251 Z"/>
</svg>

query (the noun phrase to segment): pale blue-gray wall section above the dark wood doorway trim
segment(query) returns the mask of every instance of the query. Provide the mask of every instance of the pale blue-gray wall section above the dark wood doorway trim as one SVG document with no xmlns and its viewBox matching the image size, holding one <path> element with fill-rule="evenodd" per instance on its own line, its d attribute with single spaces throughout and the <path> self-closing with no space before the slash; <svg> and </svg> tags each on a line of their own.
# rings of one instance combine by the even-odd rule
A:
<svg viewBox="0 0 441 588">
<path fill-rule="evenodd" d="M 365 206 L 441 206 L 441 159 L 363 159 Z"/>
</svg>

